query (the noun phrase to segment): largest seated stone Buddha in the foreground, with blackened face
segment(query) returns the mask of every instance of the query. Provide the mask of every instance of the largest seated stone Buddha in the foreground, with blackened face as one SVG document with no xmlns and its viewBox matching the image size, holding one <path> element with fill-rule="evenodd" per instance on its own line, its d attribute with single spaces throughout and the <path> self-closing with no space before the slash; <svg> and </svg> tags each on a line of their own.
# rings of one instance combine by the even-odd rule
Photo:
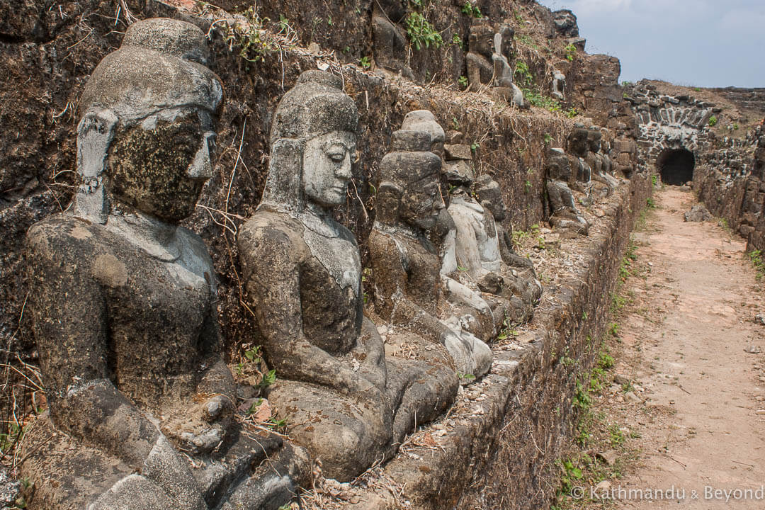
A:
<svg viewBox="0 0 765 510">
<path fill-rule="evenodd" d="M 178 226 L 210 177 L 206 60 L 194 25 L 139 21 L 83 92 L 83 185 L 27 236 L 50 406 L 25 437 L 30 508 L 277 508 L 307 467 L 236 424 L 212 261 Z"/>
</svg>

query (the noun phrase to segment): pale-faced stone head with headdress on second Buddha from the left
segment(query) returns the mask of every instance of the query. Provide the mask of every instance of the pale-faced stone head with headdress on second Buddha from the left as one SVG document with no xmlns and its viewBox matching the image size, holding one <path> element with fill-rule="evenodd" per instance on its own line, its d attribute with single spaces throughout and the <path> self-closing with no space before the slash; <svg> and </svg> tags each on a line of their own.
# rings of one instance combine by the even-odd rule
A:
<svg viewBox="0 0 765 510">
<path fill-rule="evenodd" d="M 306 203 L 337 206 L 346 197 L 356 153 L 358 112 L 338 76 L 305 71 L 279 102 L 262 205 L 291 214 Z"/>
</svg>

